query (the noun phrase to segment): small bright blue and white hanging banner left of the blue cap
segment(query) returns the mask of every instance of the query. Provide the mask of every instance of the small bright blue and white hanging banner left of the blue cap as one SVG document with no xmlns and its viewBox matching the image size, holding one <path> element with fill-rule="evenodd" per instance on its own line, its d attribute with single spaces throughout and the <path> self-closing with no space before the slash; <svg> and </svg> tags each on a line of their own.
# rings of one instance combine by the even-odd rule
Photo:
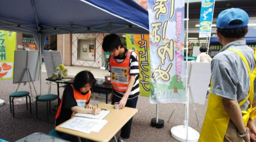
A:
<svg viewBox="0 0 256 142">
<path fill-rule="evenodd" d="M 199 25 L 199 38 L 207 38 L 211 36 L 213 6 L 214 0 L 202 0 Z"/>
</svg>

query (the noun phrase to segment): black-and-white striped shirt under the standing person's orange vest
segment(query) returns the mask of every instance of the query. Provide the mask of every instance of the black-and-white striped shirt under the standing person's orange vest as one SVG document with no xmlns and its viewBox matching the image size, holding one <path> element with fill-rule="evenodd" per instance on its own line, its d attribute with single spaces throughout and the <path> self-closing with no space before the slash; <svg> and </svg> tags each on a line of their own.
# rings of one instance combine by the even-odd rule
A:
<svg viewBox="0 0 256 142">
<path fill-rule="evenodd" d="M 114 57 L 115 61 L 117 63 L 122 63 L 123 60 L 126 58 L 128 49 L 125 48 L 125 55 L 123 55 L 121 58 Z M 139 96 L 139 62 L 138 62 L 138 57 L 135 52 L 131 52 L 131 58 L 130 58 L 130 75 L 135 75 L 135 82 L 133 84 L 133 89 L 131 89 L 130 95 L 128 99 L 135 98 Z M 109 67 L 109 72 L 111 72 L 111 67 Z M 123 95 L 125 95 L 125 92 L 119 92 L 115 89 L 113 89 L 113 94 L 119 98 L 122 98 Z"/>
</svg>

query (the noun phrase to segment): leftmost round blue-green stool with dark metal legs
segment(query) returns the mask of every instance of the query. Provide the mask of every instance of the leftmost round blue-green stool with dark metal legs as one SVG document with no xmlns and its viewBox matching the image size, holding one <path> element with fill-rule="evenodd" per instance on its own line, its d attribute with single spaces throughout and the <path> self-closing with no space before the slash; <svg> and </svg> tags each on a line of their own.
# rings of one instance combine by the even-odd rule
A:
<svg viewBox="0 0 256 142">
<path fill-rule="evenodd" d="M 9 100 L 10 100 L 10 113 L 12 113 L 12 117 L 14 118 L 14 103 L 13 100 L 14 98 L 20 98 L 26 96 L 26 104 L 27 104 L 27 96 L 29 96 L 29 92 L 27 91 L 18 91 L 18 92 L 13 92 L 10 93 L 9 95 Z M 30 106 L 30 113 L 32 113 L 31 110 L 31 97 L 29 96 L 29 106 Z M 28 107 L 27 107 L 28 109 Z"/>
</svg>

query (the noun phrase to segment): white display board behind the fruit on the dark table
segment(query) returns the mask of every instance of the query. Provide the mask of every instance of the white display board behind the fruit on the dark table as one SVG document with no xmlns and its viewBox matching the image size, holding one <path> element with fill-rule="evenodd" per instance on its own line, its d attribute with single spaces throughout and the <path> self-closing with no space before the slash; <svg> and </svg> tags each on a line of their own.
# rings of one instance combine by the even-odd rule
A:
<svg viewBox="0 0 256 142">
<path fill-rule="evenodd" d="M 62 58 L 59 51 L 43 50 L 43 61 L 45 62 L 48 77 L 56 72 L 56 68 L 62 64 Z"/>
</svg>

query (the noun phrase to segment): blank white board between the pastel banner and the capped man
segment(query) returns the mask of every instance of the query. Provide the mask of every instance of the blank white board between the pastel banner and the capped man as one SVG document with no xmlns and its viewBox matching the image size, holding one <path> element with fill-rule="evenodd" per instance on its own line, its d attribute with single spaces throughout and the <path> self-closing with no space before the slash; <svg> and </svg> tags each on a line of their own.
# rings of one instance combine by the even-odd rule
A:
<svg viewBox="0 0 256 142">
<path fill-rule="evenodd" d="M 192 96 L 195 104 L 205 104 L 210 79 L 211 63 L 188 62 L 189 102 Z"/>
</svg>

